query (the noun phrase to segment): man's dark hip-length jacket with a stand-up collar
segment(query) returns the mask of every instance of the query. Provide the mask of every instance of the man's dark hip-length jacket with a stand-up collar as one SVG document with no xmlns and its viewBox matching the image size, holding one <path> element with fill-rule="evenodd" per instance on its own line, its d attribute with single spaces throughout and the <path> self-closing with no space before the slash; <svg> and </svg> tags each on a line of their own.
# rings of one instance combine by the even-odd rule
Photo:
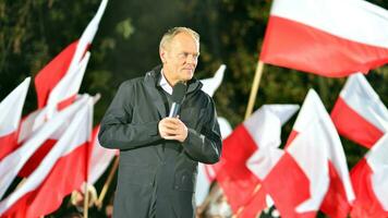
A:
<svg viewBox="0 0 388 218">
<path fill-rule="evenodd" d="M 100 144 L 120 149 L 113 210 L 118 218 L 149 217 L 155 208 L 156 217 L 194 217 L 197 162 L 220 158 L 215 104 L 195 78 L 187 83 L 179 113 L 187 138 L 180 143 L 160 137 L 158 122 L 168 108 L 159 81 L 157 68 L 121 84 L 101 121 Z"/>
</svg>

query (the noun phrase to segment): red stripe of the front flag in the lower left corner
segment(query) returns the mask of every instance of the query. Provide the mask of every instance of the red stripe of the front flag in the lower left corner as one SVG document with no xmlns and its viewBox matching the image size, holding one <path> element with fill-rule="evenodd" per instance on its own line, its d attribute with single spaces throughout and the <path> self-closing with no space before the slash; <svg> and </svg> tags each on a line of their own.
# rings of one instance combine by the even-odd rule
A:
<svg viewBox="0 0 388 218">
<path fill-rule="evenodd" d="M 63 197 L 85 181 L 88 149 L 85 143 L 61 157 L 39 187 L 20 198 L 2 217 L 40 217 L 58 209 Z"/>
</svg>

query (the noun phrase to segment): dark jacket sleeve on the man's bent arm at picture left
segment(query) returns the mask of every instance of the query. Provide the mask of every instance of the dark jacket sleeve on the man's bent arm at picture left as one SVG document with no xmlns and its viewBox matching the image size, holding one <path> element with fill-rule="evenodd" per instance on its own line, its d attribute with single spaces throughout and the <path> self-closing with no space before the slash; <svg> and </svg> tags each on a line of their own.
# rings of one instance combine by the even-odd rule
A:
<svg viewBox="0 0 388 218">
<path fill-rule="evenodd" d="M 131 81 L 124 82 L 101 121 L 98 140 L 102 147 L 131 149 L 147 146 L 161 140 L 158 133 L 158 120 L 147 123 L 131 123 L 132 100 L 135 98 Z"/>
</svg>

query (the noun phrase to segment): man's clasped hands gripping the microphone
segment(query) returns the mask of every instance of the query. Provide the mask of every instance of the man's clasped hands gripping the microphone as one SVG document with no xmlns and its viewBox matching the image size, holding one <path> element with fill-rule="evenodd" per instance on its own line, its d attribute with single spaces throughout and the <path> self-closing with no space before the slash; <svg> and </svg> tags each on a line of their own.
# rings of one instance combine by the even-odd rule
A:
<svg viewBox="0 0 388 218">
<path fill-rule="evenodd" d="M 177 140 L 181 143 L 187 137 L 186 125 L 178 118 L 163 118 L 158 124 L 159 134 L 165 140 Z"/>
</svg>

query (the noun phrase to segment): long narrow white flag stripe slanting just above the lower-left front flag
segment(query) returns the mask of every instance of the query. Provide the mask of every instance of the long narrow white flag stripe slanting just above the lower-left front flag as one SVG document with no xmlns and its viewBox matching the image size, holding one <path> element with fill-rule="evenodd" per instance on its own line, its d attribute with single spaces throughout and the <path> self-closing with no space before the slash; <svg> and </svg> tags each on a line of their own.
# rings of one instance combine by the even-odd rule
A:
<svg viewBox="0 0 388 218">
<path fill-rule="evenodd" d="M 0 161 L 0 198 L 34 153 L 44 146 L 45 143 L 50 143 L 47 142 L 48 138 L 52 137 L 61 128 L 63 129 L 63 126 L 69 125 L 68 123 L 72 120 L 82 104 L 85 104 L 85 100 L 76 101 L 71 107 L 58 113 L 53 119 L 34 132 L 17 149 Z"/>
</svg>

